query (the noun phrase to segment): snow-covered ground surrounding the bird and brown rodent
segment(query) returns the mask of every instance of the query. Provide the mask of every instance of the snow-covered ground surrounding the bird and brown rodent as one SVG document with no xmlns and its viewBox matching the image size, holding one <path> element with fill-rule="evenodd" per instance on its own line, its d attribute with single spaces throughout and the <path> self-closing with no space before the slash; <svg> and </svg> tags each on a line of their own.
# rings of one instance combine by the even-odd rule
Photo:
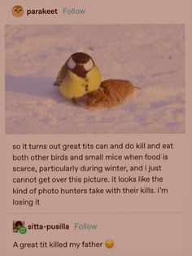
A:
<svg viewBox="0 0 192 256">
<path fill-rule="evenodd" d="M 5 37 L 7 134 L 185 132 L 183 25 L 7 25 Z M 52 82 L 76 51 L 142 90 L 116 108 L 72 104 Z"/>
</svg>

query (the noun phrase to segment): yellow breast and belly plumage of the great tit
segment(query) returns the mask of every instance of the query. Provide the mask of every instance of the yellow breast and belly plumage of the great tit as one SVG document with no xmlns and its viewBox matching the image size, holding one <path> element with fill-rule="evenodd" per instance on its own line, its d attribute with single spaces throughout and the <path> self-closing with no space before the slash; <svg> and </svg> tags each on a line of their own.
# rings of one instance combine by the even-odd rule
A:
<svg viewBox="0 0 192 256">
<path fill-rule="evenodd" d="M 71 70 L 68 70 L 66 77 L 62 82 L 59 82 L 59 91 L 68 99 L 78 98 L 97 90 L 101 82 L 101 73 L 96 66 L 89 70 L 85 78 L 78 77 Z"/>
</svg>

